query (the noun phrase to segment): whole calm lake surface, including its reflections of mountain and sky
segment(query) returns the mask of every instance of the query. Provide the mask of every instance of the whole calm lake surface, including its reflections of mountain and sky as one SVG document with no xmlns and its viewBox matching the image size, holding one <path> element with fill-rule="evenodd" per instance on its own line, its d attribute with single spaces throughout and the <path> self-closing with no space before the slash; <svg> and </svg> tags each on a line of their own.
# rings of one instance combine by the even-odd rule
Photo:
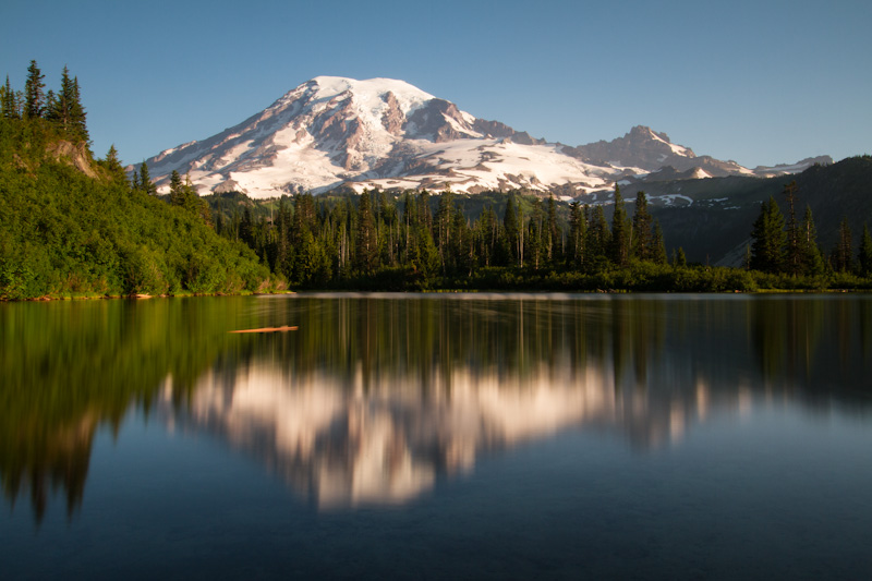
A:
<svg viewBox="0 0 872 581">
<path fill-rule="evenodd" d="M 869 578 L 870 370 L 867 295 L 0 304 L 2 577 Z"/>
</svg>

